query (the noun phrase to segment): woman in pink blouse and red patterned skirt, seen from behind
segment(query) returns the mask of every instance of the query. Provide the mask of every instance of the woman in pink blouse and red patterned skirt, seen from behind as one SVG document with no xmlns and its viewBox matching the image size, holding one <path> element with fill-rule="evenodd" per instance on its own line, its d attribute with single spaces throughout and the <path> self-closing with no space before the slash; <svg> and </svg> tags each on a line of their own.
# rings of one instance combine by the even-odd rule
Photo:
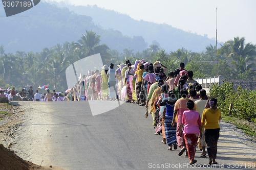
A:
<svg viewBox="0 0 256 170">
<path fill-rule="evenodd" d="M 201 135 L 202 125 L 199 112 L 193 110 L 195 103 L 191 100 L 187 101 L 187 108 L 183 112 L 182 123 L 184 124 L 183 134 L 188 152 L 189 164 L 197 162 L 195 158 L 198 134 Z"/>
</svg>

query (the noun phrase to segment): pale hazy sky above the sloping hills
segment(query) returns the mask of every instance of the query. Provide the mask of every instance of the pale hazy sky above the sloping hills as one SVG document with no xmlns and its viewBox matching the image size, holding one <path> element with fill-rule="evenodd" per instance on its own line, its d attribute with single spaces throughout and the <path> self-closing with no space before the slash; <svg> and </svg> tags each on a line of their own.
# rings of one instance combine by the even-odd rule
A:
<svg viewBox="0 0 256 170">
<path fill-rule="evenodd" d="M 42 0 L 56 1 L 63 0 Z M 127 14 L 136 20 L 166 23 L 172 27 L 216 37 L 216 7 L 218 41 L 245 37 L 256 44 L 255 0 L 65 0 L 73 5 L 97 5 Z"/>
</svg>

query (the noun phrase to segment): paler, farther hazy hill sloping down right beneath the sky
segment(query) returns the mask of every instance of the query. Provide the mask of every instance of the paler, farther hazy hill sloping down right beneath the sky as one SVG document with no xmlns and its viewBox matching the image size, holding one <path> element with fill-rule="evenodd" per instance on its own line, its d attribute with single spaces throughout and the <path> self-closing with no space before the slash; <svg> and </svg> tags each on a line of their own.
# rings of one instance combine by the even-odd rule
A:
<svg viewBox="0 0 256 170">
<path fill-rule="evenodd" d="M 103 29 L 114 29 L 127 36 L 142 36 L 148 44 L 158 42 L 168 51 L 186 48 L 194 52 L 202 52 L 209 44 L 214 45 L 215 39 L 209 39 L 194 33 L 185 32 L 166 24 L 135 20 L 126 14 L 113 10 L 106 10 L 94 6 L 72 6 L 65 3 L 56 3 L 57 6 L 67 7 L 77 14 L 91 16 L 94 23 Z"/>
</svg>

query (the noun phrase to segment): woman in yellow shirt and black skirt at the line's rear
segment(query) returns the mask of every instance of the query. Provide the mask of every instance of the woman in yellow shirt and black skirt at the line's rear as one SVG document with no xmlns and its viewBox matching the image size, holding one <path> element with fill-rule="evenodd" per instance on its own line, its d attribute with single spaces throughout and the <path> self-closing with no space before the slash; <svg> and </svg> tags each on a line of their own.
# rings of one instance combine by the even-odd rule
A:
<svg viewBox="0 0 256 170">
<path fill-rule="evenodd" d="M 210 108 L 204 109 L 202 116 L 202 125 L 205 125 L 205 141 L 207 143 L 207 152 L 209 155 L 209 164 L 217 164 L 217 143 L 220 137 L 221 110 L 217 109 L 217 99 L 209 100 Z"/>
</svg>

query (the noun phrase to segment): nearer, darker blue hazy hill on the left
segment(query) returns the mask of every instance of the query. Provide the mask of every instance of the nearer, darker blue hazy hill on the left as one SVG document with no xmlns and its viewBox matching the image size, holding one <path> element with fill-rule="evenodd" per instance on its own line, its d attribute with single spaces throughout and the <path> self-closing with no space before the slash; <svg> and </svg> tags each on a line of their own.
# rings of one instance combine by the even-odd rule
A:
<svg viewBox="0 0 256 170">
<path fill-rule="evenodd" d="M 100 35 L 101 43 L 118 51 L 124 48 L 142 51 L 148 45 L 141 36 L 128 37 L 113 29 L 104 30 L 95 25 L 90 16 L 78 15 L 67 8 L 47 3 L 40 3 L 12 17 L 6 17 L 4 8 L 0 8 L 0 23 L 0 45 L 4 45 L 6 53 L 41 52 L 43 48 L 57 43 L 77 42 L 86 30 L 95 31 Z"/>
</svg>

